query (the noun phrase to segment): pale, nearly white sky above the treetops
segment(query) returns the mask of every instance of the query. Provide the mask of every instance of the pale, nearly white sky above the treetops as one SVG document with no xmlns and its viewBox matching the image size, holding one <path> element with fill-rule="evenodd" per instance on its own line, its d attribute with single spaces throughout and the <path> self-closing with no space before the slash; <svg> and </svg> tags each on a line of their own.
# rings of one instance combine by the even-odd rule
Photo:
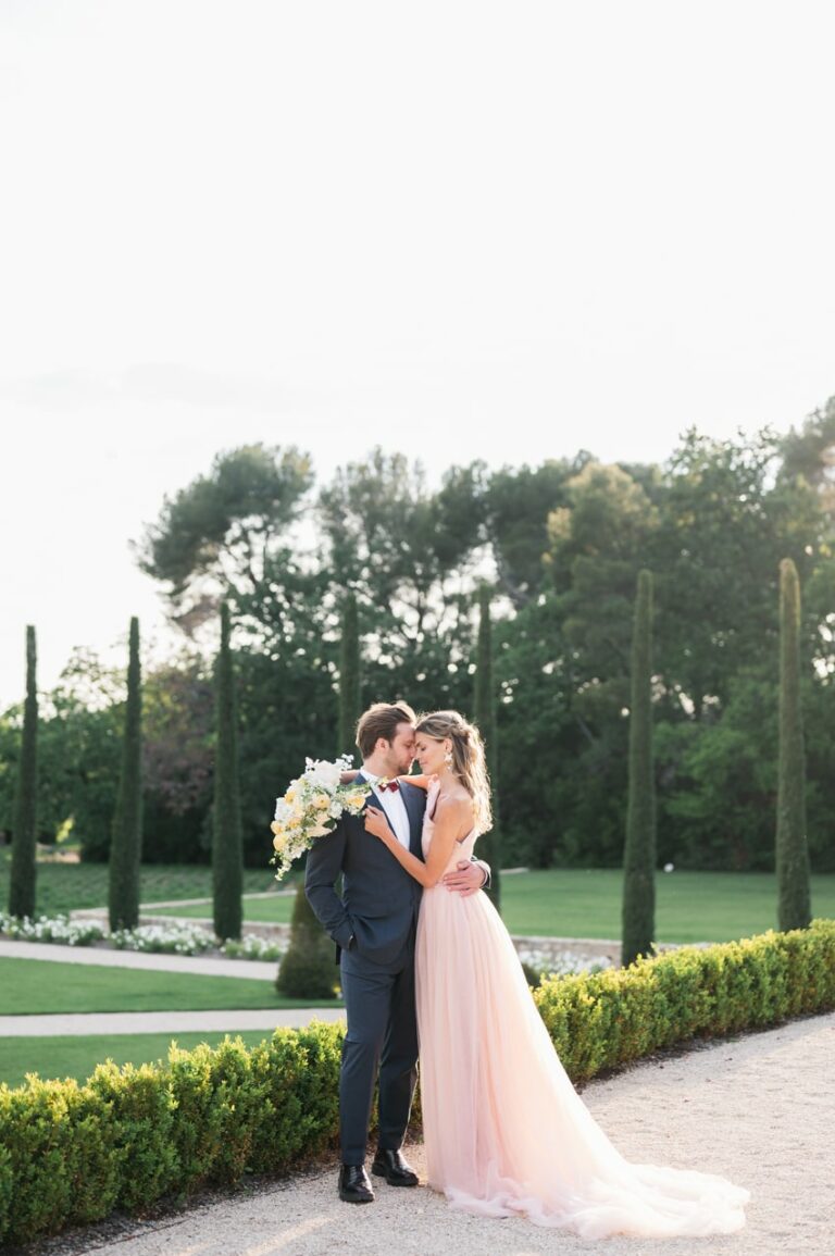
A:
<svg viewBox="0 0 835 1256">
<path fill-rule="evenodd" d="M 665 458 L 835 393 L 835 9 L 0 0 L 0 707 L 247 441 Z M 114 657 L 121 657 L 119 653 Z"/>
</svg>

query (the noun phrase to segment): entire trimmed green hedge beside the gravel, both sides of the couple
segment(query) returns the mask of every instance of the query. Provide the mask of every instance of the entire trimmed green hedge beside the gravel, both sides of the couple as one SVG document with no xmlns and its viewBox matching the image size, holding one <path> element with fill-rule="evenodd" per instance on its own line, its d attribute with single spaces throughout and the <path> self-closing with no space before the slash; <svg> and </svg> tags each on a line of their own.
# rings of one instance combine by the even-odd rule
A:
<svg viewBox="0 0 835 1256">
<path fill-rule="evenodd" d="M 581 1081 L 697 1035 L 835 1007 L 835 921 L 552 978 L 534 997 Z M 0 1086 L 0 1242 L 318 1156 L 339 1127 L 342 1034 L 315 1024 L 249 1050 L 227 1039 L 173 1049 L 167 1065 L 103 1064 L 80 1086 Z"/>
</svg>

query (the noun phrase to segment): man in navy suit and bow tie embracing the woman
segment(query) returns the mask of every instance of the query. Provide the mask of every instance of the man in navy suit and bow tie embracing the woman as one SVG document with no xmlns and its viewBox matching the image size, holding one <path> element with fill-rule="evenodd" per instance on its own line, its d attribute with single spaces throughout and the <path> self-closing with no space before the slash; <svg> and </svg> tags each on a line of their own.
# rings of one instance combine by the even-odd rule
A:
<svg viewBox="0 0 835 1256">
<path fill-rule="evenodd" d="M 357 725 L 363 766 L 374 806 L 382 808 L 394 835 L 423 858 L 421 830 L 426 791 L 391 777 L 404 775 L 414 757 L 414 712 L 406 702 L 375 702 Z M 388 784 L 387 784 L 388 781 Z M 343 897 L 334 883 L 342 874 Z M 472 894 L 490 878 L 486 864 L 462 862 L 444 877 L 447 888 Z M 417 1186 L 401 1154 L 417 1081 L 414 1011 L 414 936 L 421 885 L 365 831 L 364 816 L 343 813 L 333 833 L 308 854 L 305 893 L 337 943 L 348 1031 L 339 1075 L 339 1197 L 370 1203 L 365 1144 L 374 1081 L 379 1070 L 379 1138 L 372 1173 L 389 1186 Z"/>
</svg>

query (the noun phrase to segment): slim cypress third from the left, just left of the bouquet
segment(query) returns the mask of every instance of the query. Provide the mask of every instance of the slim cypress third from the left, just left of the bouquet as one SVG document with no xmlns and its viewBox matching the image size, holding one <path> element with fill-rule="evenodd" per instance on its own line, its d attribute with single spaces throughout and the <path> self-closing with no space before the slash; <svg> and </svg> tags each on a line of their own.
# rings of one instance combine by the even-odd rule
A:
<svg viewBox="0 0 835 1256">
<path fill-rule="evenodd" d="M 237 780 L 237 715 L 235 668 L 230 648 L 229 607 L 221 605 L 221 642 L 215 673 L 215 806 L 212 816 L 212 880 L 215 933 L 240 938 L 244 916 L 244 852 Z"/>
</svg>

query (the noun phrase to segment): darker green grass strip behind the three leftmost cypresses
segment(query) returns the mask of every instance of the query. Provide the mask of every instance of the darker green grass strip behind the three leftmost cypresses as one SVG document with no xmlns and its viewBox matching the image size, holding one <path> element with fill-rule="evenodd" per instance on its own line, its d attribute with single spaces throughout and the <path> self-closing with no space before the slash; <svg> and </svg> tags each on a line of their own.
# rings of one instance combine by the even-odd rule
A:
<svg viewBox="0 0 835 1256">
<path fill-rule="evenodd" d="M 0 853 L 0 907 L 9 902 L 11 853 Z M 269 867 L 245 868 L 244 891 L 255 893 L 272 884 Z M 212 870 L 202 864 L 144 864 L 142 868 L 142 901 L 153 903 L 170 898 L 208 898 L 212 894 Z M 38 864 L 38 914 L 58 916 L 82 907 L 103 907 L 108 898 L 107 864 Z M 211 916 L 211 908 L 208 914 Z"/>
</svg>

